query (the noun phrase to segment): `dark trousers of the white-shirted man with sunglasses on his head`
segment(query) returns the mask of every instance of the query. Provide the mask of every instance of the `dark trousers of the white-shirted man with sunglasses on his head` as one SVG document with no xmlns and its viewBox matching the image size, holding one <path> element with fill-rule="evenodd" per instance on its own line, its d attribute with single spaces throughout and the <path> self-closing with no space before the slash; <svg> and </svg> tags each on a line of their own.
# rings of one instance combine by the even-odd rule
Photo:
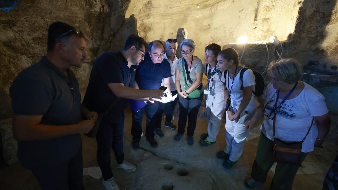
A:
<svg viewBox="0 0 338 190">
<path fill-rule="evenodd" d="M 175 96 L 176 94 L 177 94 L 177 90 L 171 91 L 172 96 Z M 178 100 L 178 98 L 176 98 L 174 101 L 168 102 L 168 103 L 159 102 L 159 109 L 158 109 L 157 114 L 156 114 L 156 128 L 161 128 L 163 110 L 165 110 L 165 114 L 166 114 L 166 123 L 171 122 L 172 111 L 175 108 L 177 100 Z"/>
</svg>

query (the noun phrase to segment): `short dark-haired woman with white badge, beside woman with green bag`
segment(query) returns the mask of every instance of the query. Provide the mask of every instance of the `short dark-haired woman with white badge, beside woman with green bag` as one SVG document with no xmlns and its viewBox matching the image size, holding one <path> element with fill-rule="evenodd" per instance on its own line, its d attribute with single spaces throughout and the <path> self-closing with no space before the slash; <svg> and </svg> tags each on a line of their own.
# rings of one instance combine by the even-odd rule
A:
<svg viewBox="0 0 338 190">
<path fill-rule="evenodd" d="M 206 108 L 207 108 L 207 121 L 208 133 L 201 135 L 199 144 L 208 146 L 216 142 L 216 136 L 219 132 L 219 126 L 224 113 L 224 88 L 221 81 L 222 72 L 216 67 L 217 56 L 221 51 L 221 46 L 218 44 L 210 44 L 206 47 L 206 54 L 204 55 L 205 70 L 208 77 L 207 86 L 204 88 L 206 94 Z"/>
</svg>

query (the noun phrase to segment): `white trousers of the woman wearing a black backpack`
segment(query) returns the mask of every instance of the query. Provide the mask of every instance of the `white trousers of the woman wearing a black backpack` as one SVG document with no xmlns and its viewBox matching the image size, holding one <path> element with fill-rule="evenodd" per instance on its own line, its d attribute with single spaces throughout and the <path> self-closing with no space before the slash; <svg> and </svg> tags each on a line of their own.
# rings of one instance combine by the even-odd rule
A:
<svg viewBox="0 0 338 190">
<path fill-rule="evenodd" d="M 249 122 L 255 112 L 249 113 L 243 111 L 239 117 L 234 121 L 230 121 L 228 114 L 225 113 L 225 153 L 230 155 L 229 159 L 236 162 L 243 153 L 245 139 L 249 131 L 245 129 L 245 123 Z"/>
</svg>

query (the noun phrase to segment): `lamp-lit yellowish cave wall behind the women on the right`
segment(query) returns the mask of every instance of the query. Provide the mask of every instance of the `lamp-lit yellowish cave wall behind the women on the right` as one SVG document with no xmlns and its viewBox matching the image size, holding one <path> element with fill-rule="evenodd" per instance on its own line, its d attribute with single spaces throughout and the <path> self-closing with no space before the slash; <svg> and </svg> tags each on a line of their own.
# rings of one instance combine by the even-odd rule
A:
<svg viewBox="0 0 338 190">
<path fill-rule="evenodd" d="M 267 63 L 295 58 L 305 73 L 302 80 L 324 96 L 330 113 L 338 114 L 338 5 L 336 0 L 204 0 L 179 3 L 131 0 L 126 17 L 135 14 L 138 31 L 147 41 L 175 37 L 185 28 L 187 37 L 203 60 L 204 47 L 217 43 L 234 47 L 249 68 L 264 72 Z M 275 35 L 281 43 L 274 47 L 264 40 Z M 248 44 L 234 44 L 246 36 Z M 269 53 L 269 57 L 267 56 Z M 263 73 L 265 77 L 266 72 Z M 266 78 L 269 82 L 269 77 Z"/>
</svg>

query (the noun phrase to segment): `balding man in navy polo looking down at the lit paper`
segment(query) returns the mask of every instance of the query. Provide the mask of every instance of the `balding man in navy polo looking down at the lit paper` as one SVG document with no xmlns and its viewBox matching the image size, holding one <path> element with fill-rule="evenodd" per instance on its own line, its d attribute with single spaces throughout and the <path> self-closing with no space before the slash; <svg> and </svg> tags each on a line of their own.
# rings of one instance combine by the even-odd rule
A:
<svg viewBox="0 0 338 190">
<path fill-rule="evenodd" d="M 159 40 L 150 42 L 149 52 L 144 56 L 144 60 L 140 63 L 136 70 L 136 87 L 143 90 L 159 89 L 163 80 L 163 86 L 167 87 L 165 93 L 171 96 L 170 87 L 170 64 L 164 59 L 163 43 Z M 132 147 L 139 148 L 139 142 L 142 134 L 142 117 L 146 112 L 146 140 L 151 147 L 157 147 L 158 144 L 154 139 L 154 130 L 156 124 L 155 114 L 159 108 L 158 103 L 147 102 L 147 104 L 138 112 L 132 115 L 131 134 Z"/>
</svg>

